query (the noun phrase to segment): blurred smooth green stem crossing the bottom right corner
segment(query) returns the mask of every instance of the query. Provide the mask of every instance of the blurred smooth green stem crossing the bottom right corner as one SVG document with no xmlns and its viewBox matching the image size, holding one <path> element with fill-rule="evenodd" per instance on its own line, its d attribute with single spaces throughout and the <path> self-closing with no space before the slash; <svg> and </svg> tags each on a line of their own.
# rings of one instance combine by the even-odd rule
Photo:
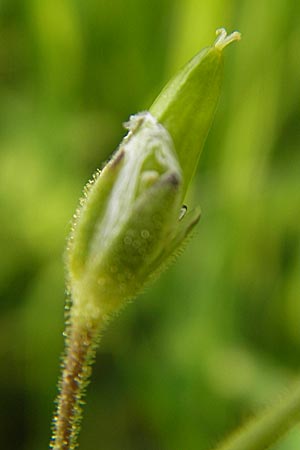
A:
<svg viewBox="0 0 300 450">
<path fill-rule="evenodd" d="M 300 420 L 300 383 L 215 450 L 265 450 Z"/>
</svg>

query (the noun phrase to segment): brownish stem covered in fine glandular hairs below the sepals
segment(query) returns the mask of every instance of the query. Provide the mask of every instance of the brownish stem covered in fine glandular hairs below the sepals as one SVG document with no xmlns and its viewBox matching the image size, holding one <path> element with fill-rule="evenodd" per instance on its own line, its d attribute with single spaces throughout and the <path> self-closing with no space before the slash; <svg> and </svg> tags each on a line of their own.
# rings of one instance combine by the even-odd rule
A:
<svg viewBox="0 0 300 450">
<path fill-rule="evenodd" d="M 57 409 L 53 419 L 50 448 L 73 450 L 77 447 L 86 386 L 95 357 L 97 329 L 69 325 L 62 362 Z"/>
</svg>

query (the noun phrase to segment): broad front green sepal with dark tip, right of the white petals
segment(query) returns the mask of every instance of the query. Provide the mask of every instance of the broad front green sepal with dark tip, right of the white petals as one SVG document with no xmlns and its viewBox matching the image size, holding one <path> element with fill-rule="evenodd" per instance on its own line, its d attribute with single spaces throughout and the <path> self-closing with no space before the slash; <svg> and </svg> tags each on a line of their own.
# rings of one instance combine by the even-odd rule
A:
<svg viewBox="0 0 300 450">
<path fill-rule="evenodd" d="M 108 251 L 92 262 L 96 277 L 102 274 L 102 280 L 106 279 L 110 302 L 112 298 L 122 302 L 135 297 L 147 282 L 177 225 L 180 188 L 176 172 L 162 175 L 139 197 Z M 103 292 L 100 294 L 103 298 Z"/>
</svg>

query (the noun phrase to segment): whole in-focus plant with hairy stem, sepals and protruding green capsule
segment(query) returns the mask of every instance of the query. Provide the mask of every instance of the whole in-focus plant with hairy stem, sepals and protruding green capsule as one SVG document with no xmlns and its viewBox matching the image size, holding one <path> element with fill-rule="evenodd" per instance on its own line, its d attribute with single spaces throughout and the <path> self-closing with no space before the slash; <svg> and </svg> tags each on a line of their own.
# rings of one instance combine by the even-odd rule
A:
<svg viewBox="0 0 300 450">
<path fill-rule="evenodd" d="M 182 204 L 218 102 L 223 50 L 239 39 L 238 32 L 217 30 L 214 44 L 167 84 L 150 110 L 130 117 L 127 136 L 85 188 L 66 252 L 69 300 L 50 443 L 55 450 L 77 447 L 104 326 L 161 272 L 199 220 L 199 209 L 185 214 Z"/>
</svg>

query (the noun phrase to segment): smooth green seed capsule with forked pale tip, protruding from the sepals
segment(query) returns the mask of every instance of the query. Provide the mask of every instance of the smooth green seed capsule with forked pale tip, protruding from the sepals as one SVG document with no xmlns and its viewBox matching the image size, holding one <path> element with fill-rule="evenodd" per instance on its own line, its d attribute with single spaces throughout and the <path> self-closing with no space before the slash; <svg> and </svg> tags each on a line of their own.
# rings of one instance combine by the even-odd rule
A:
<svg viewBox="0 0 300 450">
<path fill-rule="evenodd" d="M 224 28 L 216 34 L 214 44 L 195 55 L 150 108 L 172 136 L 184 178 L 183 195 L 196 170 L 219 100 L 223 49 L 241 38 L 237 31 L 227 36 Z"/>
</svg>

